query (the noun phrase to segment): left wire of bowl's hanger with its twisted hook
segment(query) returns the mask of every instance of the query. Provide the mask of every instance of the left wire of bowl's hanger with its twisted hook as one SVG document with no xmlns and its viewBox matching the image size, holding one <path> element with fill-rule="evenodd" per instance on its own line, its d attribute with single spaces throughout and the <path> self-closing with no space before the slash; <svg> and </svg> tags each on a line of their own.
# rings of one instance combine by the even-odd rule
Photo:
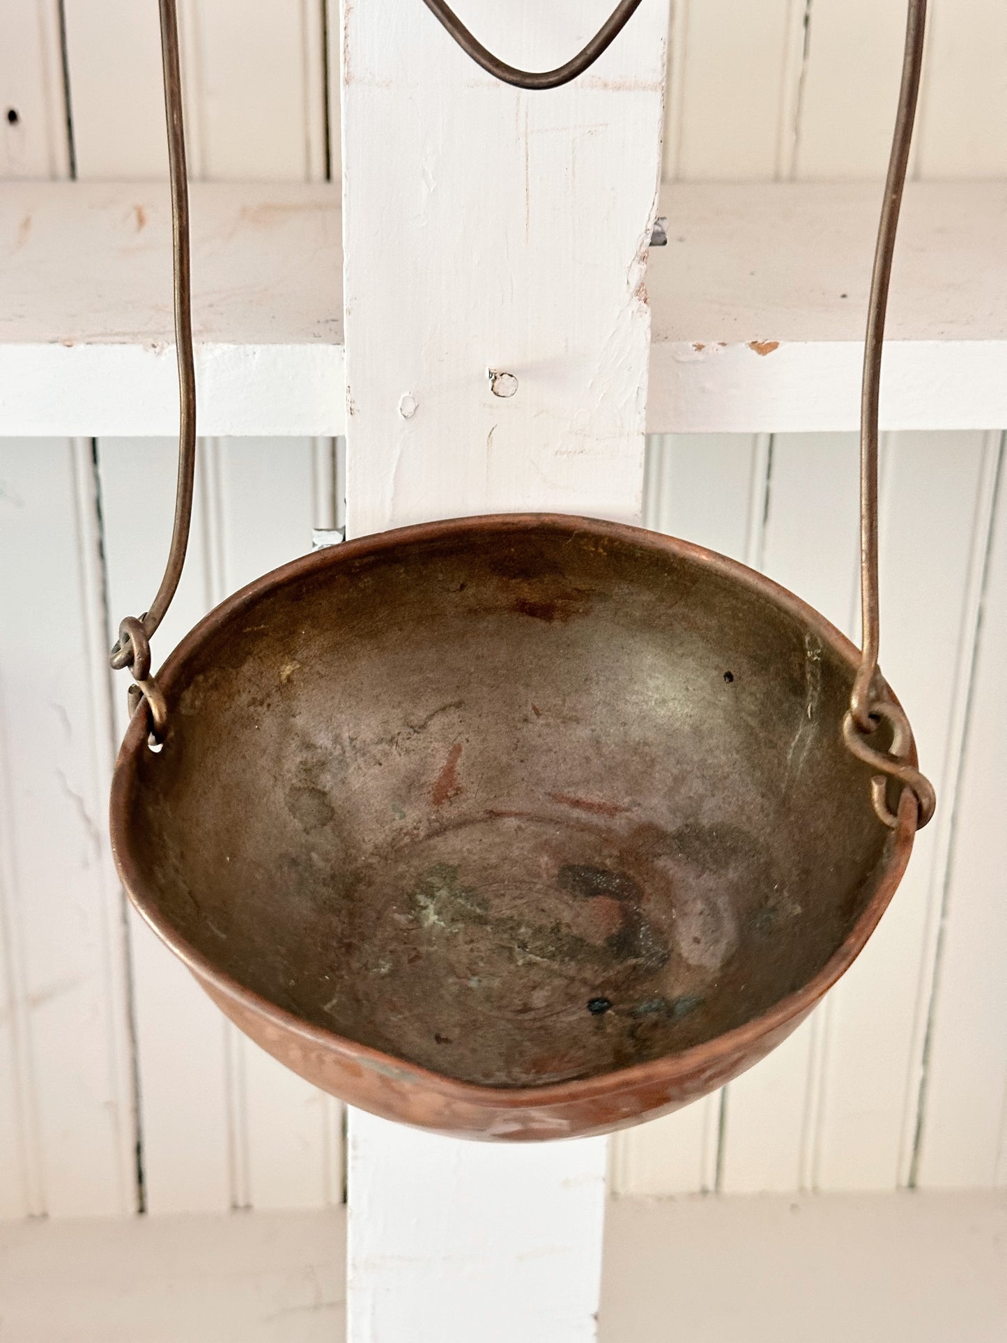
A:
<svg viewBox="0 0 1007 1343">
<path fill-rule="evenodd" d="M 150 736 L 164 740 L 168 706 L 150 676 L 150 637 L 172 604 L 185 564 L 192 521 L 192 489 L 196 473 L 196 368 L 192 353 L 192 285 L 189 278 L 189 192 L 185 171 L 185 128 L 183 124 L 181 67 L 179 60 L 179 19 L 176 0 L 160 0 L 161 67 L 164 109 L 168 124 L 168 169 L 172 185 L 172 255 L 175 263 L 175 344 L 179 355 L 179 479 L 175 493 L 175 522 L 161 586 L 150 610 L 140 618 L 128 615 L 109 655 L 118 672 L 129 667 L 130 712 L 146 706 Z"/>
</svg>

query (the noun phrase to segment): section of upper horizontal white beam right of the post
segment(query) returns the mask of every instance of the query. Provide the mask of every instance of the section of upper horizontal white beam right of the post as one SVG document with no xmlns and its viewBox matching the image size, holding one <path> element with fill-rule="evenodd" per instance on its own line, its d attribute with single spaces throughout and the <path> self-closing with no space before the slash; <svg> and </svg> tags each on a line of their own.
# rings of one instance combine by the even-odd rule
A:
<svg viewBox="0 0 1007 1343">
<path fill-rule="evenodd" d="M 647 427 L 855 430 L 878 185 L 667 187 L 651 252 Z M 1007 423 L 1007 185 L 910 185 L 892 279 L 886 428 Z"/>
</svg>

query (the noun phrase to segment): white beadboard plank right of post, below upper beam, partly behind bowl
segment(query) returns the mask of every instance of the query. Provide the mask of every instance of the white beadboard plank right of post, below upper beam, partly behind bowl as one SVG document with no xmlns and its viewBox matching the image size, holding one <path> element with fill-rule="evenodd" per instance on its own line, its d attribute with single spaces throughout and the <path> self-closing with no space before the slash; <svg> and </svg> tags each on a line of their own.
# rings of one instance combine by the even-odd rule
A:
<svg viewBox="0 0 1007 1343">
<path fill-rule="evenodd" d="M 761 465 L 761 478 L 760 467 Z M 759 548 L 765 474 L 745 435 L 661 435 L 647 441 L 646 525 L 744 560 Z M 722 1092 L 612 1140 L 619 1194 L 702 1193 L 717 1187 Z"/>
</svg>

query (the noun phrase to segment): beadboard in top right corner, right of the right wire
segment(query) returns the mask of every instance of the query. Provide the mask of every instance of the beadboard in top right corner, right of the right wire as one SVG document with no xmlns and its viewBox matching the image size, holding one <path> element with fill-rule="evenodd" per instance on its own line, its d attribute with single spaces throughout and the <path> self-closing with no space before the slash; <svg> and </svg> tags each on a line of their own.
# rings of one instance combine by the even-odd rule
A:
<svg viewBox="0 0 1007 1343">
<path fill-rule="evenodd" d="M 930 0 L 920 105 L 921 177 L 1007 176 L 1007 5 Z"/>
</svg>

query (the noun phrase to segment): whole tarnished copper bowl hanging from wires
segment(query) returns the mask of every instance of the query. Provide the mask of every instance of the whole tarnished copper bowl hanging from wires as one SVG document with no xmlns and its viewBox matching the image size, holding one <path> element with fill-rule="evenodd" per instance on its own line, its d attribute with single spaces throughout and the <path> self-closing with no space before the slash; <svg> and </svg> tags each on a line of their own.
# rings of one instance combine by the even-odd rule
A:
<svg viewBox="0 0 1007 1343">
<path fill-rule="evenodd" d="M 602 1132 L 753 1064 L 905 869 L 857 653 L 722 556 L 585 518 L 364 537 L 212 611 L 133 721 L 115 857 L 242 1030 L 473 1138 Z"/>
</svg>

